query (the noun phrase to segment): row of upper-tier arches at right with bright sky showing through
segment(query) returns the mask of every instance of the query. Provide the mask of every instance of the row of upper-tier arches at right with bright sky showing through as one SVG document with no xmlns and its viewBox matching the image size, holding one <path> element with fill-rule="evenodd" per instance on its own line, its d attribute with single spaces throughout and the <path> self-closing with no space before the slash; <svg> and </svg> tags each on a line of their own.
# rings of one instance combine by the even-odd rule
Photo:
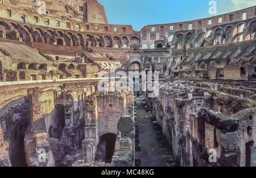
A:
<svg viewBox="0 0 256 178">
<path fill-rule="evenodd" d="M 245 40 L 254 40 L 256 33 L 256 20 L 249 23 L 241 22 L 228 24 L 225 27 L 217 27 L 208 31 L 176 32 L 168 36 L 168 44 L 172 48 L 203 47 L 205 45 L 220 45 L 226 43 L 237 43 Z"/>
</svg>

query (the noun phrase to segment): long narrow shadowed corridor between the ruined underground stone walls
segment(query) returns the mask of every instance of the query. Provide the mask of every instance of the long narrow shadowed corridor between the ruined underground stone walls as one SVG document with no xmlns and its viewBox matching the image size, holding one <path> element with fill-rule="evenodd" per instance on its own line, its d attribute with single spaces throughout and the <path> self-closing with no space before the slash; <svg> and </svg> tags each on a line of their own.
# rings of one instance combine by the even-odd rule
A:
<svg viewBox="0 0 256 178">
<path fill-rule="evenodd" d="M 170 146 L 143 98 L 135 98 L 135 166 L 173 166 Z M 137 106 L 137 107 L 136 107 Z"/>
</svg>

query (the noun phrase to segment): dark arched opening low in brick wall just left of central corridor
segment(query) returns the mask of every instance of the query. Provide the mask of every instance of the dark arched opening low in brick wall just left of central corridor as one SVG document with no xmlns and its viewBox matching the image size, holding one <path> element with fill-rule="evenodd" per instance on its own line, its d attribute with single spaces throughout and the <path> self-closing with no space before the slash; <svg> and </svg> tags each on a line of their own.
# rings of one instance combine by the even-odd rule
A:
<svg viewBox="0 0 256 178">
<path fill-rule="evenodd" d="M 112 157 L 115 151 L 116 134 L 107 133 L 100 136 L 100 142 L 98 143 L 96 160 L 104 161 L 106 163 L 112 162 Z"/>
</svg>

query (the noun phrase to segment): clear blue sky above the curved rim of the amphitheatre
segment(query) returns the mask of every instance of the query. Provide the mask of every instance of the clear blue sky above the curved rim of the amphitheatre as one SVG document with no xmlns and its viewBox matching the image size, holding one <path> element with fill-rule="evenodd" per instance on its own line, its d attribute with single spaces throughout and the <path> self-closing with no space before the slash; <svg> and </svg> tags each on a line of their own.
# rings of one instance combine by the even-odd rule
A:
<svg viewBox="0 0 256 178">
<path fill-rule="evenodd" d="M 174 23 L 213 16 L 210 0 L 98 0 L 110 24 L 131 24 L 139 31 L 147 24 Z M 217 15 L 256 5 L 255 0 L 216 0 Z"/>
</svg>

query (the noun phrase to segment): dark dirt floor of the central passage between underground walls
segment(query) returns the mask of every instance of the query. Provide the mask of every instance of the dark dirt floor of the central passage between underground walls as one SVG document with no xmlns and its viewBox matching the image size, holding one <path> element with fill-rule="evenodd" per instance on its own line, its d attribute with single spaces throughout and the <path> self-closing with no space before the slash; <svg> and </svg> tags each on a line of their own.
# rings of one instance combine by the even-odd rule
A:
<svg viewBox="0 0 256 178">
<path fill-rule="evenodd" d="M 141 161 L 142 167 L 167 167 L 170 166 L 170 148 L 163 146 L 158 140 L 157 131 L 152 123 L 152 114 L 144 108 L 142 98 L 137 97 L 137 125 L 138 125 L 138 145 L 141 151 L 135 152 L 136 160 Z"/>
</svg>

